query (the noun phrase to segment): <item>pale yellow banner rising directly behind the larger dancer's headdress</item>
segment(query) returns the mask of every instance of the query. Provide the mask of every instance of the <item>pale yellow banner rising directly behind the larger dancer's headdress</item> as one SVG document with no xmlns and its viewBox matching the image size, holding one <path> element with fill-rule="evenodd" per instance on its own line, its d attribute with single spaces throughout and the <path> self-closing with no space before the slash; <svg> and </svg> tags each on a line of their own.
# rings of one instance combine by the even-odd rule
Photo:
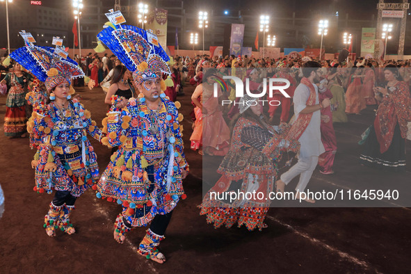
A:
<svg viewBox="0 0 411 274">
<path fill-rule="evenodd" d="M 151 29 L 163 49 L 167 45 L 167 10 L 161 8 L 154 8 L 154 10 L 147 14 L 147 24 L 145 29 Z"/>
</svg>

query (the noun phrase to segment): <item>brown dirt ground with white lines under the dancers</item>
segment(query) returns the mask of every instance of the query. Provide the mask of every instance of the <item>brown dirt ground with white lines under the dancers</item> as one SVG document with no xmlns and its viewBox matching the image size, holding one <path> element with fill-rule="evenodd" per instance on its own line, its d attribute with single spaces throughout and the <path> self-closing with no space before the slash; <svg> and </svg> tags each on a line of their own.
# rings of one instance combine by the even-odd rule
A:
<svg viewBox="0 0 411 274">
<path fill-rule="evenodd" d="M 106 107 L 101 88 L 77 88 L 82 102 L 101 126 Z M 49 238 L 42 227 L 52 195 L 33 191 L 34 151 L 29 140 L 8 139 L 0 132 L 0 184 L 6 207 L 0 220 L 0 273 L 407 273 L 410 271 L 411 210 L 399 208 L 272 208 L 268 228 L 248 232 L 244 227 L 213 229 L 197 208 L 202 200 L 202 158 L 189 150 L 191 119 L 188 113 L 193 87 L 178 97 L 184 114 L 184 143 L 191 173 L 184 181 L 188 198 L 179 202 L 161 243 L 165 264 L 156 264 L 136 253 L 145 228 L 113 240 L 113 222 L 120 206 L 87 191 L 76 202 L 72 222 L 76 234 L 58 232 Z M 6 113 L 0 97 L 0 117 Z M 279 112 L 279 111 L 277 111 Z M 335 175 L 314 172 L 309 186 L 355 189 L 362 184 L 410 183 L 411 159 L 403 174 L 366 168 L 358 164 L 359 136 L 373 121 L 373 107 L 350 122 L 335 124 L 338 153 Z M 92 140 L 100 172 L 110 150 Z M 408 141 L 407 152 L 411 145 Z M 295 186 L 291 182 L 289 189 Z"/>
</svg>

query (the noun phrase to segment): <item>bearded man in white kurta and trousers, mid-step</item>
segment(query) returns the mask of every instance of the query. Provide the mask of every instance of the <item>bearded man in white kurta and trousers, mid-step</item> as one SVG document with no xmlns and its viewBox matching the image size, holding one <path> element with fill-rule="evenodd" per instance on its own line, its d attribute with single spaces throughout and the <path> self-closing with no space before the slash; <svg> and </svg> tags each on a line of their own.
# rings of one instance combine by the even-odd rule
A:
<svg viewBox="0 0 411 274">
<path fill-rule="evenodd" d="M 308 64 L 309 63 L 309 64 Z M 329 99 L 324 99 L 323 102 L 319 102 L 318 87 L 314 83 L 315 80 L 319 80 L 321 74 L 321 67 L 319 63 L 308 62 L 307 65 L 311 67 L 303 68 L 303 74 L 314 86 L 316 92 L 316 100 L 313 106 L 307 106 L 307 100 L 309 98 L 309 87 L 300 83 L 296 91 L 294 92 L 293 104 L 294 113 L 296 119 L 300 113 L 312 113 L 311 120 L 303 134 L 301 134 L 298 141 L 301 144 L 300 153 L 298 155 L 298 162 L 291 167 L 287 172 L 281 175 L 280 180 L 277 181 L 277 191 L 284 191 L 284 186 L 287 185 L 294 177 L 300 175 L 300 180 L 297 184 L 296 191 L 297 197 L 299 193 L 304 192 L 309 179 L 311 179 L 312 172 L 316 168 L 319 161 L 319 155 L 325 152 L 323 143 L 321 142 L 321 108 L 325 108 L 330 105 Z M 315 67 L 314 67 L 315 66 Z M 318 67 L 318 68 L 317 68 Z M 315 202 L 311 199 L 305 199 L 307 202 Z"/>
</svg>

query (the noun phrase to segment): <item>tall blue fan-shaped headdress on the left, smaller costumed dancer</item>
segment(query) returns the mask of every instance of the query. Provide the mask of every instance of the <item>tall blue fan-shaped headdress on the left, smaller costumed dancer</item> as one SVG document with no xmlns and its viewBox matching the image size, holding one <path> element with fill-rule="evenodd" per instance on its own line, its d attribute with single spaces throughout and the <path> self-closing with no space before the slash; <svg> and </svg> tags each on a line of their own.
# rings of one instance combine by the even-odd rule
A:
<svg viewBox="0 0 411 274">
<path fill-rule="evenodd" d="M 20 34 L 26 45 L 13 51 L 10 57 L 29 70 L 37 79 L 44 82 L 47 91 L 63 82 L 70 84 L 72 78 L 84 76 L 83 70 L 75 61 L 67 57 L 67 53 L 62 47 L 58 45 L 56 48 L 35 46 L 33 45 L 35 40 L 30 33 L 22 32 Z"/>
</svg>

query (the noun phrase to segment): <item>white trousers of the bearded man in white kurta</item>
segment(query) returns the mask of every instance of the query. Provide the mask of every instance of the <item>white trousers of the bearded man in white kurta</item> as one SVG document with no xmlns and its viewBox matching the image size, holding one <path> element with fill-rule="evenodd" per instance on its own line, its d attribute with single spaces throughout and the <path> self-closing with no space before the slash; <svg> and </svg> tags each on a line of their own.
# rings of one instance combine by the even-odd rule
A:
<svg viewBox="0 0 411 274">
<path fill-rule="evenodd" d="M 298 162 L 292 166 L 289 171 L 282 174 L 280 179 L 284 184 L 288 184 L 294 177 L 300 175 L 300 181 L 297 184 L 296 191 L 303 192 L 318 162 L 319 156 L 298 157 Z"/>
</svg>

